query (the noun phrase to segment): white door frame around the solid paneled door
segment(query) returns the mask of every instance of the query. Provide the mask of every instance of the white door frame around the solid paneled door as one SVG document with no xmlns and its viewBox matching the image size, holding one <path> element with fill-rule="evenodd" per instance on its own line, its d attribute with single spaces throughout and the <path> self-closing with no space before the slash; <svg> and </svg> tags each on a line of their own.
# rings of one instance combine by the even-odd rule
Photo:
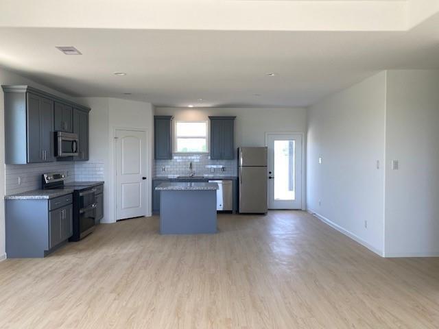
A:
<svg viewBox="0 0 439 329">
<path fill-rule="evenodd" d="M 114 200 L 114 205 L 113 205 L 113 213 L 114 213 L 114 217 L 113 217 L 113 222 L 116 223 L 118 221 L 117 219 L 117 175 L 116 175 L 116 167 L 117 167 L 117 161 L 116 161 L 116 156 L 117 156 L 117 151 L 116 151 L 116 132 L 117 130 L 132 130 L 134 132 L 144 132 L 145 133 L 145 166 L 147 167 L 145 173 L 146 173 L 146 192 L 145 192 L 145 202 L 146 202 L 146 207 L 145 207 L 145 217 L 149 217 L 151 214 L 151 204 L 150 204 L 150 190 L 152 188 L 151 184 L 152 184 L 152 177 L 148 177 L 148 176 L 152 176 L 152 168 L 151 168 L 151 163 L 150 163 L 150 147 L 149 147 L 149 134 L 148 134 L 148 129 L 145 127 L 121 127 L 121 126 L 113 126 L 113 131 L 112 131 L 112 149 L 113 149 L 113 157 L 112 157 L 112 178 L 113 178 L 113 182 L 114 182 L 114 186 L 113 186 L 113 200 Z"/>
</svg>

